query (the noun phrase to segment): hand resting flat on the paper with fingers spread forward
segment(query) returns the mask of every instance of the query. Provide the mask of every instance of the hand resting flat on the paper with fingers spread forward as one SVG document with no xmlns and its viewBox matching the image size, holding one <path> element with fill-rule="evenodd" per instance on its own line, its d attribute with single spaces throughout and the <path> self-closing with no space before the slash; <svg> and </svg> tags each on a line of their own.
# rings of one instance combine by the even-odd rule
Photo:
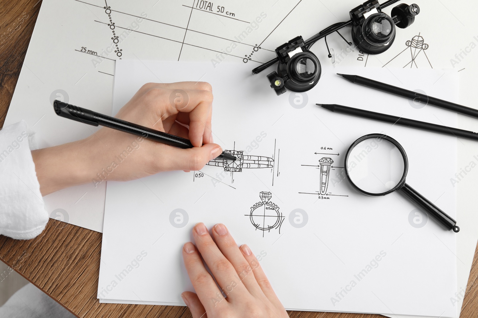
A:
<svg viewBox="0 0 478 318">
<path fill-rule="evenodd" d="M 214 241 L 206 226 L 198 223 L 193 229 L 197 248 L 191 242 L 183 247 L 196 294 L 186 291 L 181 296 L 193 318 L 289 317 L 250 248 L 238 247 L 223 224 L 214 226 L 212 234 Z"/>
</svg>

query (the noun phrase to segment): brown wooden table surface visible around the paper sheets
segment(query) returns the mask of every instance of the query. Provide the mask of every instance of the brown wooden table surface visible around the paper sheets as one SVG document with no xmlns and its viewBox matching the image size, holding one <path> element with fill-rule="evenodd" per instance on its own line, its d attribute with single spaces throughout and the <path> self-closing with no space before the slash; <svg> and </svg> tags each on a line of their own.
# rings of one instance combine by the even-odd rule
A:
<svg viewBox="0 0 478 318">
<path fill-rule="evenodd" d="M 0 17 L 0 127 L 22 68 L 41 1 L 1 1 Z M 25 18 L 27 16 L 27 18 Z M 23 17 L 21 24 L 19 18 Z M 0 181 L 1 182 L 1 181 Z M 191 317 L 185 307 L 100 304 L 96 298 L 101 233 L 82 227 L 48 222 L 32 240 L 0 236 L 0 258 L 23 277 L 56 299 L 78 317 Z M 475 251 L 462 318 L 477 317 L 478 254 Z M 380 315 L 290 311 L 300 318 L 377 318 Z"/>
</svg>

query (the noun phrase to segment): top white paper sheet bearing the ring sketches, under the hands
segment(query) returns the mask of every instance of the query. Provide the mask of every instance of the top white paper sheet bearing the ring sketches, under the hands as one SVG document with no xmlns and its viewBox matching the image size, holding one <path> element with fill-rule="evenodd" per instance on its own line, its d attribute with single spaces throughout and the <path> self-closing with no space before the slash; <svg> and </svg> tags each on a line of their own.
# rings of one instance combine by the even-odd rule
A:
<svg viewBox="0 0 478 318">
<path fill-rule="evenodd" d="M 412 89 L 420 85 L 448 100 L 457 97 L 456 72 L 363 68 L 343 72 L 391 84 L 402 82 Z M 271 94 L 267 85 L 260 85 L 263 79 L 250 80 L 249 70 L 241 64 L 222 63 L 214 69 L 208 63 L 149 61 L 117 62 L 114 112 L 144 82 L 153 81 L 154 74 L 161 74 L 168 82 L 186 78 L 211 82 L 215 87 L 215 141 L 224 149 L 246 150 L 256 136 L 265 134 L 250 155 L 274 157 L 274 168 L 243 169 L 231 176 L 221 167 L 206 166 L 189 174 L 174 172 L 122 184 L 110 182 L 98 297 L 181 302 L 180 293 L 191 290 L 181 247 L 190 240 L 191 227 L 204 221 L 207 226 L 225 223 L 239 244 L 249 244 L 256 255 L 266 254 L 261 265 L 286 308 L 456 315 L 456 307 L 448 302 L 456 286 L 456 234 L 444 231 L 431 219 L 422 228 L 411 226 L 409 215 L 416 207 L 405 197 L 360 195 L 347 181 L 340 182 L 337 175 L 342 170 L 335 168 L 343 166 L 345 151 L 358 137 L 375 132 L 390 134 L 409 156 L 407 182 L 455 216 L 455 189 L 443 175 L 454 171 L 456 139 L 330 113 L 315 103 L 359 106 L 451 126 L 456 124 L 456 115 L 429 106 L 413 108 L 407 100 L 344 82 L 331 69 L 324 70 L 315 90 L 302 95 L 308 102 L 297 109 L 289 102 L 298 97 L 295 93 Z M 231 74 L 235 74 L 233 82 L 229 80 Z M 437 156 L 438 147 L 447 151 Z M 319 170 L 306 165 L 317 165 L 324 156 L 333 158 L 335 170 L 331 170 L 328 195 L 318 199 L 316 194 L 304 194 L 320 189 Z M 196 173 L 205 176 L 197 178 Z M 250 222 L 251 207 L 260 201 L 261 191 L 272 193 L 271 202 L 284 216 L 280 233 L 277 229 L 263 233 Z M 169 222 L 170 213 L 178 208 L 188 214 L 187 225 L 180 229 Z M 308 215 L 303 228 L 289 222 L 297 208 Z M 142 251 L 148 256 L 138 268 L 126 278 L 118 277 Z M 372 261 L 375 257 L 380 262 Z M 378 266 L 369 268 L 371 261 L 372 267 Z M 365 279 L 354 276 L 362 269 L 370 269 Z M 437 276 L 442 278 L 437 280 Z M 117 281 L 114 288 L 113 280 Z M 342 288 L 351 291 L 345 294 Z"/>
</svg>

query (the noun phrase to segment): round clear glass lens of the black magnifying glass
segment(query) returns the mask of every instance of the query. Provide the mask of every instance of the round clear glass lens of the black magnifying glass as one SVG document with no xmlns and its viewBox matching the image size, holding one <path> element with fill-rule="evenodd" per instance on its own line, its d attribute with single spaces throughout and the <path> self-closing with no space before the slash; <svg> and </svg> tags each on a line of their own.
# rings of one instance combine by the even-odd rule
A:
<svg viewBox="0 0 478 318">
<path fill-rule="evenodd" d="M 350 149 L 347 170 L 350 180 L 362 191 L 381 194 L 399 185 L 405 173 L 405 159 L 391 142 L 365 139 Z"/>
</svg>

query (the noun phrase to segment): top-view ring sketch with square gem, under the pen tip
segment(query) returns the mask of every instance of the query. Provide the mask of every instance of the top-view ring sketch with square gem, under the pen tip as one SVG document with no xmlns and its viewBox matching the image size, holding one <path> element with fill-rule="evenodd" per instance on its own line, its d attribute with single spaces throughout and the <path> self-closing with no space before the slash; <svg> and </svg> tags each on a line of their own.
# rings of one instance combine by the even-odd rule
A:
<svg viewBox="0 0 478 318">
<path fill-rule="evenodd" d="M 224 152 L 236 156 L 236 161 L 216 158 L 209 161 L 207 165 L 223 167 L 224 171 L 241 172 L 245 168 L 272 168 L 274 164 L 274 159 L 270 157 L 245 155 L 243 151 L 238 150 L 224 150 Z"/>
</svg>

